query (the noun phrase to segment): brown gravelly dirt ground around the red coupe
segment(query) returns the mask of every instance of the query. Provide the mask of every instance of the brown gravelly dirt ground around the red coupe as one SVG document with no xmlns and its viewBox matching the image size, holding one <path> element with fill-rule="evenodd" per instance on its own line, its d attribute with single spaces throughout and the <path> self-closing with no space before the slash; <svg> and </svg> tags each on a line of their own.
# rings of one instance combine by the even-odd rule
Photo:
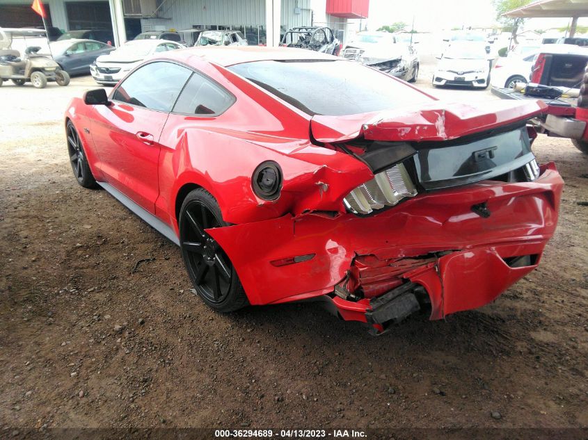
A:
<svg viewBox="0 0 588 440">
<path fill-rule="evenodd" d="M 429 82 L 422 69 L 418 85 Z M 588 157 L 569 140 L 534 144 L 566 181 L 539 269 L 482 309 L 374 337 L 317 304 L 207 309 L 175 245 L 72 177 L 63 111 L 91 87 L 82 77 L 0 89 L 0 437 L 82 426 L 588 426 L 588 206 L 578 204 Z"/>
</svg>

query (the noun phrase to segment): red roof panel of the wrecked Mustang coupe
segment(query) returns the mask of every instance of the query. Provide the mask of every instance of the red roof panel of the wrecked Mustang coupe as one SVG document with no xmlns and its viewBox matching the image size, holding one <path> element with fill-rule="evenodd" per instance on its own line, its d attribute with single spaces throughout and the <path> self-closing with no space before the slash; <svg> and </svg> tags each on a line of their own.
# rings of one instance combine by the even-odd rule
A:
<svg viewBox="0 0 588 440">
<path fill-rule="evenodd" d="M 205 60 L 209 63 L 228 67 L 253 61 L 285 60 L 342 60 L 337 56 L 293 47 L 263 46 L 204 46 L 189 47 L 165 53 L 166 58 L 191 65 L 191 62 Z"/>
</svg>

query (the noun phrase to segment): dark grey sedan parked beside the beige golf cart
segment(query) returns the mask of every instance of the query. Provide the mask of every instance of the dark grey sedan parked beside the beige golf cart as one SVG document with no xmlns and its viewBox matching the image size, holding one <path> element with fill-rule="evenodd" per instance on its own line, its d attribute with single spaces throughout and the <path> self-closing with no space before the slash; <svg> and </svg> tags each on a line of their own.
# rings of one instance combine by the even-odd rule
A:
<svg viewBox="0 0 588 440">
<path fill-rule="evenodd" d="M 61 40 L 51 43 L 51 54 L 59 67 L 70 75 L 90 73 L 90 65 L 115 48 L 94 40 Z"/>
</svg>

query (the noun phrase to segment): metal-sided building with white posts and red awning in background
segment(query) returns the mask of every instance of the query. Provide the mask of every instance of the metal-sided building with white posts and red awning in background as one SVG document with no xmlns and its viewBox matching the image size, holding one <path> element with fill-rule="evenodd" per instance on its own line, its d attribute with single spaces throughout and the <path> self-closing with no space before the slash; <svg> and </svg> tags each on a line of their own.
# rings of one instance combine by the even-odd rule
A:
<svg viewBox="0 0 588 440">
<path fill-rule="evenodd" d="M 249 33 L 254 42 L 274 46 L 288 28 L 317 22 L 315 15 L 325 17 L 325 21 L 336 24 L 337 28 L 345 28 L 349 17 L 367 17 L 368 1 L 44 0 L 43 3 L 49 26 L 63 31 L 109 28 L 117 45 L 146 30 L 239 28 L 246 36 Z M 312 10 L 312 2 L 319 5 L 318 10 Z M 42 25 L 31 3 L 32 0 L 0 0 L 0 26 Z M 358 9 L 357 5 L 361 7 Z M 321 21 L 320 24 L 327 24 Z"/>
</svg>

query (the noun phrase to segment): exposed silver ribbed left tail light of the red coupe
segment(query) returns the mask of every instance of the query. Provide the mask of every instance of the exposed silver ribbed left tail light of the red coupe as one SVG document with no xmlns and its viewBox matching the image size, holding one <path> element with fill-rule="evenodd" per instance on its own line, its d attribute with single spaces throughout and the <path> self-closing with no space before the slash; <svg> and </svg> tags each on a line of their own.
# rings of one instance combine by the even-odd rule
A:
<svg viewBox="0 0 588 440">
<path fill-rule="evenodd" d="M 398 163 L 355 188 L 344 197 L 343 204 L 351 213 L 365 215 L 372 213 L 374 209 L 394 206 L 406 197 L 415 197 L 417 193 L 406 167 Z"/>
</svg>

